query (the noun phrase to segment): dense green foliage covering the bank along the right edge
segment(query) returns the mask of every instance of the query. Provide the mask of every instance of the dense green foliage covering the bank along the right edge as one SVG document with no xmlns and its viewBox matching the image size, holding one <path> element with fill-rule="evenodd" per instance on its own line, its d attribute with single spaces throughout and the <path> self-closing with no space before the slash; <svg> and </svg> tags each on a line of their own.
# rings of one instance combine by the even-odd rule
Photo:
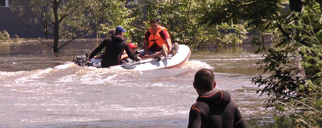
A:
<svg viewBox="0 0 322 128">
<path fill-rule="evenodd" d="M 204 24 L 247 23 L 259 33 L 252 43 L 270 76 L 252 82 L 267 94 L 266 108 L 280 112 L 273 127 L 322 127 L 322 6 L 320 0 L 223 0 L 206 13 Z M 289 4 L 290 10 L 285 11 Z M 274 48 L 263 37 L 271 36 Z"/>
</svg>

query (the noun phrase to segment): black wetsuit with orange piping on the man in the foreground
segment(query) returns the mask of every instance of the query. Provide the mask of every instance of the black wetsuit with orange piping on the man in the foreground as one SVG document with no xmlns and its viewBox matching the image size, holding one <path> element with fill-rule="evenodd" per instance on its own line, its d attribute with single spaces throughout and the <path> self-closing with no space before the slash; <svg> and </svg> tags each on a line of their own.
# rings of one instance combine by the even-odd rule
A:
<svg viewBox="0 0 322 128">
<path fill-rule="evenodd" d="M 229 92 L 207 92 L 197 98 L 189 112 L 188 128 L 246 128 Z"/>
</svg>

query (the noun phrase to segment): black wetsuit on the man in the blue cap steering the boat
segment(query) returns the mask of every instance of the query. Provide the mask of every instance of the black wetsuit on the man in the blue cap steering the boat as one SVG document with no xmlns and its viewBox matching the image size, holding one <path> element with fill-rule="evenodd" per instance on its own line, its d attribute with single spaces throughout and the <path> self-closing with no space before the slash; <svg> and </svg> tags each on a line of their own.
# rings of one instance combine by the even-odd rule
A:
<svg viewBox="0 0 322 128">
<path fill-rule="evenodd" d="M 138 61 L 137 56 L 133 55 L 128 46 L 128 43 L 122 36 L 112 36 L 107 37 L 99 46 L 90 53 L 89 58 L 93 58 L 99 51 L 105 47 L 105 52 L 103 60 L 101 61 L 102 68 L 108 68 L 110 66 L 120 65 L 121 64 L 121 55 L 123 51 L 128 54 L 128 57 L 131 60 Z"/>
</svg>

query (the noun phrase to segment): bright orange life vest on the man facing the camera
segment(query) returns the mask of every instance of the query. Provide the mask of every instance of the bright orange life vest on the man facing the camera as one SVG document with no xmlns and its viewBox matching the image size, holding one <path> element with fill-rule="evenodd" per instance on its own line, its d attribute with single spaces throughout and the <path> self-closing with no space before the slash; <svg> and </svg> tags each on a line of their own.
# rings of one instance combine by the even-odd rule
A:
<svg viewBox="0 0 322 128">
<path fill-rule="evenodd" d="M 164 40 L 162 39 L 162 37 L 159 34 L 162 30 L 164 30 L 164 31 L 166 31 L 168 33 L 168 30 L 165 27 L 162 27 L 162 26 L 159 26 L 158 27 L 158 29 L 156 30 L 156 33 L 153 33 L 152 32 L 152 29 L 149 28 L 149 31 L 150 31 L 151 35 L 149 36 L 148 49 L 150 49 L 150 47 L 154 43 L 156 43 L 161 48 L 162 48 L 162 44 L 164 44 L 166 46 L 166 51 L 169 51 L 168 50 L 168 46 L 166 45 L 166 42 L 164 42 Z M 172 43 L 171 43 L 171 39 L 170 39 L 169 33 L 168 33 L 168 36 L 169 36 L 169 42 L 170 42 L 170 45 L 171 45 Z"/>
</svg>

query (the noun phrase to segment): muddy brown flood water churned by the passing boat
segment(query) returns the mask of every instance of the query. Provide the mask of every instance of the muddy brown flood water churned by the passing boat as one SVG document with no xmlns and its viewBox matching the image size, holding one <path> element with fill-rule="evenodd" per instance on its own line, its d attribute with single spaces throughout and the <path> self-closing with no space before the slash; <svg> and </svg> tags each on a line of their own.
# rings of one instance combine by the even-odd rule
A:
<svg viewBox="0 0 322 128">
<path fill-rule="evenodd" d="M 246 124 L 271 120 L 252 77 L 262 71 L 250 44 L 222 49 L 191 49 L 182 67 L 150 71 L 73 66 L 62 62 L 92 50 L 95 40 L 79 40 L 58 55 L 39 43 L 0 44 L 0 127 L 187 127 L 198 94 L 198 69 L 215 74 L 216 90 L 231 93 Z M 75 52 L 77 51 L 77 52 Z"/>
</svg>

